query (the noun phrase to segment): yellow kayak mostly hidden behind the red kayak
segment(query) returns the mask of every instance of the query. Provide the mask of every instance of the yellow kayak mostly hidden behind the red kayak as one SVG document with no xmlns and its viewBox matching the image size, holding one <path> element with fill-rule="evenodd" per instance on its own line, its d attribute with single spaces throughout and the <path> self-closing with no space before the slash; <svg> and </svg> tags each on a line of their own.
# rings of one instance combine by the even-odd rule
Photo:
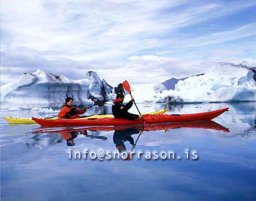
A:
<svg viewBox="0 0 256 201">
<path fill-rule="evenodd" d="M 146 113 L 149 115 L 160 115 L 164 114 L 168 109 L 164 110 L 158 110 L 150 113 Z M 145 115 L 145 114 L 144 114 Z M 86 116 L 86 117 L 81 117 L 81 118 L 113 118 L 113 115 L 91 115 L 91 116 Z M 9 123 L 15 123 L 15 124 L 35 124 L 36 122 L 32 120 L 32 118 L 13 118 L 13 117 L 4 117 L 6 121 Z M 58 117 L 51 117 L 51 118 L 45 118 L 46 120 L 58 120 Z"/>
</svg>

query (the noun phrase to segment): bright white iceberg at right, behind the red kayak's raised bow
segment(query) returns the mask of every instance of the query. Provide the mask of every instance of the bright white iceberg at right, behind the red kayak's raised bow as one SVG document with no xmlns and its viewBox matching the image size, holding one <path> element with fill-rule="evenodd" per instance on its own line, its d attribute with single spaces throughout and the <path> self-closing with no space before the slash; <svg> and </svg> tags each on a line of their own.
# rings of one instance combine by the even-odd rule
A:
<svg viewBox="0 0 256 201">
<path fill-rule="evenodd" d="M 220 62 L 203 74 L 179 80 L 174 90 L 137 85 L 133 95 L 137 102 L 155 103 L 256 101 L 255 78 L 255 67 Z"/>
</svg>

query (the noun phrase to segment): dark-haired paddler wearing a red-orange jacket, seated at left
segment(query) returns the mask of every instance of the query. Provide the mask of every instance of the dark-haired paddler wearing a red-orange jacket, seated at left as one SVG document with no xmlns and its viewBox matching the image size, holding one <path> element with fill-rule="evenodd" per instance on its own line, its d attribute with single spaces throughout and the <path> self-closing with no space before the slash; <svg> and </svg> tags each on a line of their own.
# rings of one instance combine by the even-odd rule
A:
<svg viewBox="0 0 256 201">
<path fill-rule="evenodd" d="M 59 118 L 79 118 L 79 115 L 84 114 L 86 112 L 86 108 L 83 110 L 79 110 L 75 106 L 73 106 L 73 98 L 67 97 L 65 102 L 66 105 L 60 110 L 58 117 Z"/>
</svg>

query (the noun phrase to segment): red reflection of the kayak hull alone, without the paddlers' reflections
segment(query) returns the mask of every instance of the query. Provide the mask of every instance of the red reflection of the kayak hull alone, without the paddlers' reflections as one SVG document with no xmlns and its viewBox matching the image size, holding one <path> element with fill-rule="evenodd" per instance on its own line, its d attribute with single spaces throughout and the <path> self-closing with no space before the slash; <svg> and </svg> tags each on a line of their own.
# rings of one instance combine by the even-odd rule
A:
<svg viewBox="0 0 256 201">
<path fill-rule="evenodd" d="M 34 134 L 38 133 L 69 133 L 71 131 L 114 131 L 114 130 L 126 130 L 126 129 L 138 129 L 144 131 L 155 131 L 155 130 L 168 130 L 176 128 L 201 128 L 201 129 L 213 129 L 229 132 L 228 128 L 223 127 L 214 121 L 195 121 L 195 122 L 178 122 L 178 123 L 161 123 L 161 124 L 147 124 L 147 125 L 123 125 L 123 126 L 89 126 L 80 128 L 64 128 L 64 129 L 45 129 L 34 131 Z"/>
</svg>

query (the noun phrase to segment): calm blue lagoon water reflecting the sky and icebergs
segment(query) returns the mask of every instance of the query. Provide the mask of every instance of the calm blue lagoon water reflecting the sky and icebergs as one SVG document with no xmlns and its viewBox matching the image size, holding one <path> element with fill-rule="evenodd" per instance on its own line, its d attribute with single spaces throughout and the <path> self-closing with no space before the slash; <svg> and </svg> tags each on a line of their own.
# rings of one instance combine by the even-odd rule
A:
<svg viewBox="0 0 256 201">
<path fill-rule="evenodd" d="M 230 109 L 214 119 L 219 130 L 180 126 L 143 131 L 134 149 L 173 150 L 181 160 L 130 161 L 69 159 L 70 150 L 116 151 L 114 131 L 88 130 L 88 136 L 79 134 L 75 145 L 67 147 L 60 132 L 54 132 L 64 128 L 34 134 L 45 128 L 3 119 L 57 113 L 1 111 L 1 200 L 256 200 L 256 103 L 138 106 L 142 112 L 169 108 L 169 114 Z M 110 110 L 111 105 L 99 106 L 87 114 Z M 138 136 L 132 135 L 134 141 Z M 132 148 L 128 141 L 125 145 Z M 186 160 L 186 149 L 196 150 L 199 159 Z"/>
</svg>

